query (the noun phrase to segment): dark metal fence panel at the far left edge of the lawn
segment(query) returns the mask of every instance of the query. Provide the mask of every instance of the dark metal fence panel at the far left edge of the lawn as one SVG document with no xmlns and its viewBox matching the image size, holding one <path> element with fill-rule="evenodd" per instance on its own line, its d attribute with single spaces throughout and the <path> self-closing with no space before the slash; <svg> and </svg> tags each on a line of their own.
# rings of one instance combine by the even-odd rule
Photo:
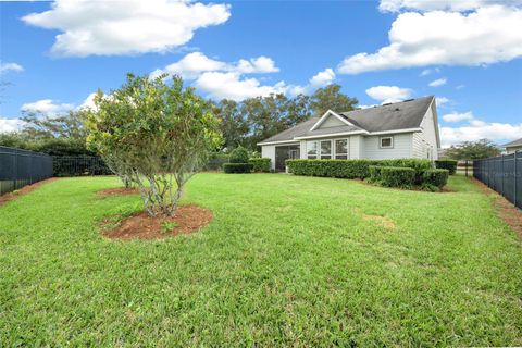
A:
<svg viewBox="0 0 522 348">
<path fill-rule="evenodd" d="M 52 176 L 52 157 L 0 146 L 0 196 Z"/>
</svg>

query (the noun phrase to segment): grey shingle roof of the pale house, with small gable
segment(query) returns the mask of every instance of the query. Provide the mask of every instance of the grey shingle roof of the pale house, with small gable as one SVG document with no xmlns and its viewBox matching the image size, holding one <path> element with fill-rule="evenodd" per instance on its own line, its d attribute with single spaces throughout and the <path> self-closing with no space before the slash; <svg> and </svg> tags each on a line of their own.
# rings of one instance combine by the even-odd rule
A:
<svg viewBox="0 0 522 348">
<path fill-rule="evenodd" d="M 259 142 L 259 145 L 291 142 L 300 138 L 319 137 L 331 134 L 372 134 L 418 129 L 434 98 L 434 96 L 428 96 L 341 113 L 328 111 L 322 117 L 313 117 L 302 122 L 290 129 L 264 139 Z M 346 125 L 318 128 L 328 113 L 335 115 L 337 119 L 340 116 L 346 120 Z"/>
</svg>

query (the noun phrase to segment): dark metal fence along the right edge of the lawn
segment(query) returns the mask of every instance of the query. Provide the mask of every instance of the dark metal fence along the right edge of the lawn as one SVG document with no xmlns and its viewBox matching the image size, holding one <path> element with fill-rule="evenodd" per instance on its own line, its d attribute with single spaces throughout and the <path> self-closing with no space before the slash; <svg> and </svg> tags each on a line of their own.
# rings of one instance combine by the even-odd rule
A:
<svg viewBox="0 0 522 348">
<path fill-rule="evenodd" d="M 522 209 L 522 152 L 473 162 L 473 176 Z"/>
</svg>

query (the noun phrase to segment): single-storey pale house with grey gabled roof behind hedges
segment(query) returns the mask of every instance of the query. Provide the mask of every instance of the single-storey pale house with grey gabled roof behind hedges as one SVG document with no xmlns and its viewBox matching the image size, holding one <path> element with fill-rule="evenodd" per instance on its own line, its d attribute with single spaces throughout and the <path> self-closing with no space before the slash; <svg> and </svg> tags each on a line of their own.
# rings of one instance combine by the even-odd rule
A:
<svg viewBox="0 0 522 348">
<path fill-rule="evenodd" d="M 349 112 L 328 110 L 258 144 L 272 169 L 287 159 L 438 159 L 435 97 Z"/>
</svg>

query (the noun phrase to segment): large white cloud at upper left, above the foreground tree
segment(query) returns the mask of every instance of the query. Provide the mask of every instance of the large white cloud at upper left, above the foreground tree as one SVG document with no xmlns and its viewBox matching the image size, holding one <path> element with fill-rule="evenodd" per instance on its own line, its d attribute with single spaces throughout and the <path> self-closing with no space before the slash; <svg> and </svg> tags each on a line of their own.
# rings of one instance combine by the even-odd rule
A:
<svg viewBox="0 0 522 348">
<path fill-rule="evenodd" d="M 187 44 L 195 30 L 229 16 L 227 4 L 188 0 L 57 0 L 51 10 L 22 20 L 62 32 L 53 53 L 86 57 L 165 52 Z"/>
</svg>

